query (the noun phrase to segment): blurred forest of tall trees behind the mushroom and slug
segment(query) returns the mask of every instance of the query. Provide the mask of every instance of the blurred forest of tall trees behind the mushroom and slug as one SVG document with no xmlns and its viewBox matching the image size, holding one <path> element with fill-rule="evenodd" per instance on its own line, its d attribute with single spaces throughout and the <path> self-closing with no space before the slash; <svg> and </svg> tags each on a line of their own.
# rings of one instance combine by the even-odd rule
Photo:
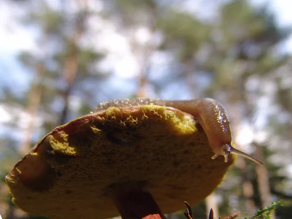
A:
<svg viewBox="0 0 292 219">
<path fill-rule="evenodd" d="M 265 162 L 238 158 L 193 207 L 195 219 L 210 207 L 248 218 L 280 199 L 285 206 L 272 218 L 292 218 L 292 57 L 282 49 L 291 28 L 279 27 L 267 7 L 248 0 L 1 0 L 0 8 L 10 11 L 7 31 L 29 30 L 32 42 L 15 62 L 0 59 L 3 219 L 41 218 L 13 205 L 4 177 L 43 135 L 100 102 L 136 96 L 219 100 L 237 147 Z"/>
</svg>

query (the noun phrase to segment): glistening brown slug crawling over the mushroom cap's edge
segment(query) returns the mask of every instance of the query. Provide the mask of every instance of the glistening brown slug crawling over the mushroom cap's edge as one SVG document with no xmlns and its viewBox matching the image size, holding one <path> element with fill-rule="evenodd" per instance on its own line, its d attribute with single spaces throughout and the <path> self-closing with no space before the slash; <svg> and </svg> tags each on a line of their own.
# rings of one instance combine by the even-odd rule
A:
<svg viewBox="0 0 292 219">
<path fill-rule="evenodd" d="M 106 110 L 109 107 L 123 108 L 142 105 L 172 107 L 191 114 L 203 128 L 207 136 L 209 145 L 215 153 L 215 155 L 212 156 L 212 159 L 215 159 L 219 155 L 222 155 L 224 156 L 224 161 L 228 162 L 229 154 L 237 154 L 254 161 L 256 164 L 264 164 L 253 156 L 231 146 L 232 133 L 227 112 L 218 101 L 211 98 L 176 101 L 149 98 L 112 100 L 99 104 L 93 110 L 93 112 Z"/>
</svg>

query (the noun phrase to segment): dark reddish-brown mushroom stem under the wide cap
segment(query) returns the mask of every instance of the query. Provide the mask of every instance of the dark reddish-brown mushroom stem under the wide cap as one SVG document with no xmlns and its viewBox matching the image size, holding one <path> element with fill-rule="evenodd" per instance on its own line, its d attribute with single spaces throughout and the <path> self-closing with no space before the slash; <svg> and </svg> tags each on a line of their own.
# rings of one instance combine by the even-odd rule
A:
<svg viewBox="0 0 292 219">
<path fill-rule="evenodd" d="M 146 191 L 119 193 L 114 203 L 122 219 L 166 219 L 152 195 Z"/>
</svg>

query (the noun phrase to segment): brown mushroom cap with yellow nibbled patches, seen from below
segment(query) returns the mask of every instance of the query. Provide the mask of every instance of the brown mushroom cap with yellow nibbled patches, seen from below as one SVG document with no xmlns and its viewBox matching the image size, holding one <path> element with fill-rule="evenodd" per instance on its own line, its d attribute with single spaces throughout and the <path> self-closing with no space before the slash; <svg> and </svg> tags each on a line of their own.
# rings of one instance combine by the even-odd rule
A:
<svg viewBox="0 0 292 219">
<path fill-rule="evenodd" d="M 213 151 L 190 114 L 156 105 L 110 107 L 55 128 L 6 176 L 13 202 L 54 219 L 119 215 L 113 198 L 149 191 L 164 213 L 195 205 L 234 162 Z"/>
</svg>

